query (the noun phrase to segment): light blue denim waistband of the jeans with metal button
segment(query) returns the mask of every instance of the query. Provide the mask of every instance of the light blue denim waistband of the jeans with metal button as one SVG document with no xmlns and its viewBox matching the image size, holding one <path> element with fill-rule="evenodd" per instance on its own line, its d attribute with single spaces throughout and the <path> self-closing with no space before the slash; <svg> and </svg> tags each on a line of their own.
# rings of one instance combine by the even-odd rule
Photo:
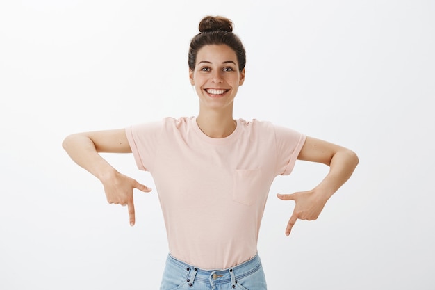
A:
<svg viewBox="0 0 435 290">
<path fill-rule="evenodd" d="M 194 265 L 179 261 L 171 255 L 168 255 L 167 262 L 186 271 L 190 287 L 192 287 L 195 281 L 210 283 L 212 285 L 231 282 L 235 287 L 237 280 L 247 277 L 261 268 L 261 259 L 258 257 L 258 254 L 242 264 L 222 270 L 203 270 Z"/>
</svg>

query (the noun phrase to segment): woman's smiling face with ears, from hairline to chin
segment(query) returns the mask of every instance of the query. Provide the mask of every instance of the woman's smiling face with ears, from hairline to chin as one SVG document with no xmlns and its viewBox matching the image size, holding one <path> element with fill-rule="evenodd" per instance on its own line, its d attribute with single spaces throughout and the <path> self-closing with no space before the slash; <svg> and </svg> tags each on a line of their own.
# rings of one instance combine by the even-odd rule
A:
<svg viewBox="0 0 435 290">
<path fill-rule="evenodd" d="M 202 108 L 232 108 L 238 86 L 245 80 L 245 69 L 239 72 L 237 56 L 231 47 L 206 45 L 199 49 L 189 78 Z"/>
</svg>

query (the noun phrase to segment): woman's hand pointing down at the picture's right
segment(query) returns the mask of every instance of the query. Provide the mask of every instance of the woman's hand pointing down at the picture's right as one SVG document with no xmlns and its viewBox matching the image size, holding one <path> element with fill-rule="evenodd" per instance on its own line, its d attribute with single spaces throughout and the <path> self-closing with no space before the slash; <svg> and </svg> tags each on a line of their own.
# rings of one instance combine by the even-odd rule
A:
<svg viewBox="0 0 435 290">
<path fill-rule="evenodd" d="M 280 200 L 295 201 L 295 209 L 293 209 L 293 214 L 290 217 L 290 220 L 288 220 L 286 236 L 290 235 L 296 220 L 316 220 L 327 202 L 327 198 L 323 198 L 322 195 L 316 193 L 315 191 L 301 191 L 293 194 L 277 194 L 277 197 Z"/>
</svg>

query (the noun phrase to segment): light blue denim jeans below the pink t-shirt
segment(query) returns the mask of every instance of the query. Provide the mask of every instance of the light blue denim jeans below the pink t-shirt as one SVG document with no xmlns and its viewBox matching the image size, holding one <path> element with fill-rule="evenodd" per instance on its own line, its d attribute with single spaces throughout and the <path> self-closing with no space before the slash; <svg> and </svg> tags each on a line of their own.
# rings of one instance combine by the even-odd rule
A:
<svg viewBox="0 0 435 290">
<path fill-rule="evenodd" d="M 160 290 L 266 290 L 258 255 L 224 270 L 202 270 L 167 256 Z"/>
</svg>

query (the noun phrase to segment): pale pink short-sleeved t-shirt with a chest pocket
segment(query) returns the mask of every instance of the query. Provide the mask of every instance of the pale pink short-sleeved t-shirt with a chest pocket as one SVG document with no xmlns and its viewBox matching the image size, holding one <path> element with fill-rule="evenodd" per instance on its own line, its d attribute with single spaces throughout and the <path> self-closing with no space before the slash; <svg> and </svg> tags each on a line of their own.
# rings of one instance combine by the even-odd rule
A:
<svg viewBox="0 0 435 290">
<path fill-rule="evenodd" d="M 236 121 L 226 138 L 206 136 L 195 117 L 126 128 L 138 168 L 156 184 L 171 255 L 203 269 L 256 255 L 270 185 L 290 174 L 305 141 L 270 122 Z"/>
</svg>

